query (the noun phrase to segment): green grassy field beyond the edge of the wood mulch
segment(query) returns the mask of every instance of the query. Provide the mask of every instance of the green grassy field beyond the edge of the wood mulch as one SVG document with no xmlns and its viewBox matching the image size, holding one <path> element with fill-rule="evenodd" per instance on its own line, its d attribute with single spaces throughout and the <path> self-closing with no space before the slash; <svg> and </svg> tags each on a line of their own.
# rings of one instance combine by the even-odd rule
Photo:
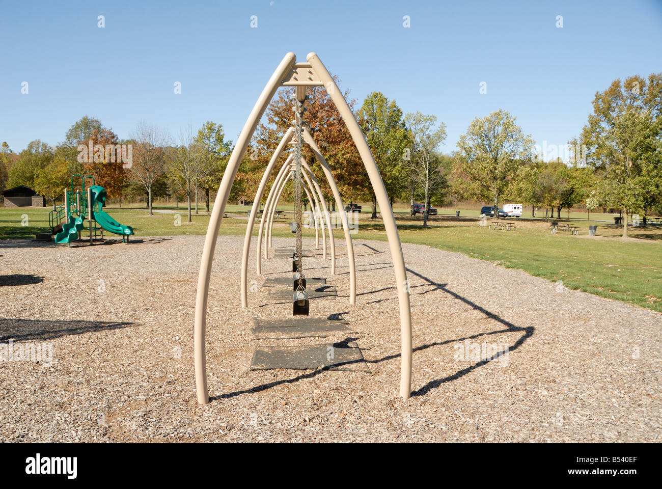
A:
<svg viewBox="0 0 662 489">
<path fill-rule="evenodd" d="M 230 217 L 223 219 L 221 233 L 244 235 L 248 209 L 228 205 L 226 211 Z M 291 211 L 291 205 L 283 205 L 281 209 Z M 0 208 L 0 238 L 34 238 L 36 233 L 48 232 L 49 210 Z M 137 207 L 107 210 L 118 222 L 132 226 L 137 236 L 203 235 L 209 224 L 206 213 L 194 214 L 193 223 L 186 223 L 186 209 L 174 206 L 158 207 L 152 216 L 146 209 Z M 595 221 L 587 221 L 585 215 L 583 219 L 568 221 L 579 226 L 580 236 L 561 231 L 552 235 L 549 223 L 540 219 L 514 219 L 518 223 L 516 231 L 495 231 L 480 227 L 477 219 L 470 217 L 438 216 L 432 217 L 430 227 L 424 229 L 422 217 L 412 219 L 406 209 L 395 210 L 403 242 L 461 252 L 501 266 L 520 268 L 553 282 L 562 280 L 568 288 L 662 312 L 662 226 L 632 228 L 628 240 L 620 238 L 622 228 L 610 224 L 612 216 L 602 214 L 593 214 Z M 440 212 L 444 213 L 442 209 Z M 181 217 L 179 226 L 175 225 L 177 213 Z M 461 216 L 472 213 L 471 209 L 461 209 Z M 477 216 L 477 211 L 473 214 Z M 27 225 L 22 225 L 22 221 Z M 291 214 L 277 221 L 274 234 L 291 237 L 289 221 Z M 587 237 L 589 225 L 598 225 L 598 237 Z M 306 230 L 306 234 L 314 236 L 314 231 Z M 336 230 L 335 235 L 342 239 L 341 230 Z M 381 219 L 371 220 L 365 212 L 359 215 L 358 233 L 354 236 L 386 239 Z"/>
</svg>

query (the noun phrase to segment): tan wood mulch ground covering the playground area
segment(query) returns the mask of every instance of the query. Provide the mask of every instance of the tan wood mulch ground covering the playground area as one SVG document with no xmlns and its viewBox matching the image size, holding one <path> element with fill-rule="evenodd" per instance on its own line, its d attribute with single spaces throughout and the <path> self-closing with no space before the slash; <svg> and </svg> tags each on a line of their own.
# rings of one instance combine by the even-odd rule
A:
<svg viewBox="0 0 662 489">
<path fill-rule="evenodd" d="M 262 284 L 291 262 L 263 260 L 258 277 L 252 254 L 256 287 L 242 309 L 243 239 L 218 238 L 207 333 L 213 401 L 204 407 L 193 376 L 203 237 L 79 248 L 2 241 L 0 275 L 13 278 L 0 287 L 0 342 L 51 345 L 54 364 L 0 368 L 0 441 L 659 441 L 662 315 L 421 245 L 403 245 L 414 339 L 408 402 L 395 397 L 400 327 L 383 242 L 357 241 L 357 307 L 348 305 L 344 247 L 336 276 L 318 254 L 307 258 L 308 274 L 338 292 L 311 301 L 311 315 L 340 314 L 350 333 L 268 340 L 355 343 L 370 373 L 251 371 L 265 342 L 252 334 L 253 317 L 291 314 L 291 301 Z M 508 356 L 473 359 L 486 345 L 508 347 Z"/>
</svg>

